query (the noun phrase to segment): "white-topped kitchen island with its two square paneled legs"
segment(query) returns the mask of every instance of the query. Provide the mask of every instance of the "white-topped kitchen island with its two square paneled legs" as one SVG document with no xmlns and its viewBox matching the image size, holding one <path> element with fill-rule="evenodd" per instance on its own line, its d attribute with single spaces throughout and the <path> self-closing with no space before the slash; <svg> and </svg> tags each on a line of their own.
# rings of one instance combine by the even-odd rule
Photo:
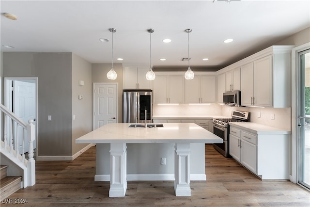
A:
<svg viewBox="0 0 310 207">
<path fill-rule="evenodd" d="M 223 140 L 194 123 L 164 123 L 163 127 L 128 127 L 107 124 L 78 138 L 76 143 L 110 143 L 109 197 L 124 197 L 127 189 L 126 143 L 174 143 L 174 191 L 190 196 L 190 143 L 222 143 Z M 98 150 L 98 147 L 97 147 Z M 100 150 L 100 147 L 99 147 Z M 96 163 L 102 159 L 96 153 Z M 204 156 L 204 155 L 203 155 Z"/>
</svg>

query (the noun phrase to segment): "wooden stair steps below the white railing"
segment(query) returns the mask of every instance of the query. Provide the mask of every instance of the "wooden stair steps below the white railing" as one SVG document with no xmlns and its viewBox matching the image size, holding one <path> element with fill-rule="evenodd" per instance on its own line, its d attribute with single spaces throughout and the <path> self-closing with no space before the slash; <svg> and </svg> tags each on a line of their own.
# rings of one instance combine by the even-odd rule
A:
<svg viewBox="0 0 310 207">
<path fill-rule="evenodd" d="M 20 189 L 21 176 L 7 176 L 8 165 L 0 166 L 0 200 L 7 198 Z"/>
</svg>

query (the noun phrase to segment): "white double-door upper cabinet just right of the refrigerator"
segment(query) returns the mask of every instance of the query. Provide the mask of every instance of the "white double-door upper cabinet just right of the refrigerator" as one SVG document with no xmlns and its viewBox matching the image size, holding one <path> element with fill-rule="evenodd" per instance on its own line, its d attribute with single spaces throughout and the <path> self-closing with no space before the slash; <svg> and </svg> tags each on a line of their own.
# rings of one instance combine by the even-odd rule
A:
<svg viewBox="0 0 310 207">
<path fill-rule="evenodd" d="M 184 77 L 156 75 L 153 81 L 153 103 L 184 103 Z"/>
</svg>

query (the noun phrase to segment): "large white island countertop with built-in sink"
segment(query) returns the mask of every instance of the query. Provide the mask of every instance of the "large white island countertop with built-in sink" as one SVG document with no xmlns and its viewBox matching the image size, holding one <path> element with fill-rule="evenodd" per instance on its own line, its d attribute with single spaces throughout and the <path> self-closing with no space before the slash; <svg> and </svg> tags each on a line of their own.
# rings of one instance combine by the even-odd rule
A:
<svg viewBox="0 0 310 207">
<path fill-rule="evenodd" d="M 107 124 L 76 143 L 223 143 L 210 131 L 194 123 L 163 123 L 164 127 L 128 127 L 129 123 Z"/>
</svg>

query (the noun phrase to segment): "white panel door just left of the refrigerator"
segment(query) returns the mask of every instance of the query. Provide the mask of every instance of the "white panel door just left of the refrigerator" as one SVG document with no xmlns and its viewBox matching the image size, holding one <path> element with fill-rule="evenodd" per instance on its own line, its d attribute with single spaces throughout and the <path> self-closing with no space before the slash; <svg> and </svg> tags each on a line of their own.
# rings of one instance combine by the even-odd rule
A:
<svg viewBox="0 0 310 207">
<path fill-rule="evenodd" d="M 93 130 L 117 123 L 117 84 L 93 83 Z"/>
</svg>

